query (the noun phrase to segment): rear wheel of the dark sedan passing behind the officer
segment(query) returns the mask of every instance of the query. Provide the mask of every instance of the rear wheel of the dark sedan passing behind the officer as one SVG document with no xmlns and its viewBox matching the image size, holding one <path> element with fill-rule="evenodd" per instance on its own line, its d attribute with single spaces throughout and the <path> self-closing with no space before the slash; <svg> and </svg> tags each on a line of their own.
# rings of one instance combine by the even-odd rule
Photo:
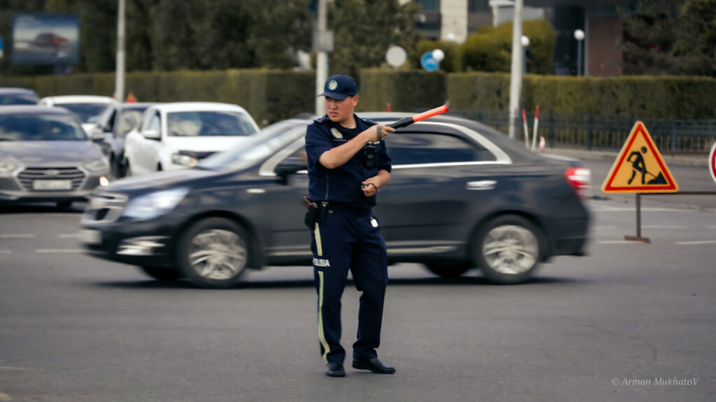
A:
<svg viewBox="0 0 716 402">
<path fill-rule="evenodd" d="M 545 250 L 544 236 L 532 222 L 518 215 L 502 215 L 483 226 L 473 244 L 480 269 L 493 283 L 528 280 Z"/>
</svg>

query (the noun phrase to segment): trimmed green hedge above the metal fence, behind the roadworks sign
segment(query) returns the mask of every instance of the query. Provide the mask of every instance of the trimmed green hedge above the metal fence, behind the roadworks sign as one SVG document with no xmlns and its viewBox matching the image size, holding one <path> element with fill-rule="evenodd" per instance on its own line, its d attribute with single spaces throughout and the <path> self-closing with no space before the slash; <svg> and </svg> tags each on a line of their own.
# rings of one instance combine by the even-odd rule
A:
<svg viewBox="0 0 716 402">
<path fill-rule="evenodd" d="M 507 110 L 510 75 L 449 74 L 450 107 Z M 708 77 L 556 77 L 527 74 L 523 105 L 562 113 L 619 114 L 639 118 L 716 118 L 716 79 Z"/>
</svg>

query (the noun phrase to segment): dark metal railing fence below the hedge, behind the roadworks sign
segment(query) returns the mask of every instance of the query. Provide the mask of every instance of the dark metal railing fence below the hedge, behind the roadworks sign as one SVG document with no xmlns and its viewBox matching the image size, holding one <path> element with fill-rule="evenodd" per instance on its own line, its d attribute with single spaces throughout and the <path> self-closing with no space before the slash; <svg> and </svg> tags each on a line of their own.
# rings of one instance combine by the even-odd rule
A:
<svg viewBox="0 0 716 402">
<path fill-rule="evenodd" d="M 509 112 L 494 110 L 451 110 L 450 114 L 472 119 L 508 132 Z M 534 111 L 527 112 L 529 137 L 534 127 Z M 574 114 L 540 112 L 537 135 L 548 147 L 579 147 L 619 150 L 639 120 L 616 114 Z M 703 153 L 716 141 L 716 119 L 640 119 L 661 152 Z M 517 139 L 523 140 L 522 118 L 516 122 Z"/>
</svg>

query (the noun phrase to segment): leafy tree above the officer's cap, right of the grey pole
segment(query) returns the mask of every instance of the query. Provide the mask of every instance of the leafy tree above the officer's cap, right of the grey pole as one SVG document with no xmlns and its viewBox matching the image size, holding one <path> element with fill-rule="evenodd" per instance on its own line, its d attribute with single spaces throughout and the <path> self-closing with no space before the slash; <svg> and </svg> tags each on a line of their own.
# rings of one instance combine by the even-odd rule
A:
<svg viewBox="0 0 716 402">
<path fill-rule="evenodd" d="M 392 45 L 414 51 L 419 36 L 415 12 L 419 6 L 397 0 L 335 0 L 329 6 L 329 29 L 334 51 L 330 74 L 344 72 L 358 78 L 359 69 L 378 67 Z"/>
</svg>

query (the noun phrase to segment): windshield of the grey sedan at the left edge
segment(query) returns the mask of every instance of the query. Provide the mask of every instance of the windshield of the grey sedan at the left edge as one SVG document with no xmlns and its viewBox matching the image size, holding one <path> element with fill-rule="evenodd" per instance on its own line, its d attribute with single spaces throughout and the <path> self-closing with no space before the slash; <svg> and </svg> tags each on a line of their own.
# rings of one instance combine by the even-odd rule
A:
<svg viewBox="0 0 716 402">
<path fill-rule="evenodd" d="M 86 141 L 67 114 L 0 114 L 0 141 Z"/>
</svg>

